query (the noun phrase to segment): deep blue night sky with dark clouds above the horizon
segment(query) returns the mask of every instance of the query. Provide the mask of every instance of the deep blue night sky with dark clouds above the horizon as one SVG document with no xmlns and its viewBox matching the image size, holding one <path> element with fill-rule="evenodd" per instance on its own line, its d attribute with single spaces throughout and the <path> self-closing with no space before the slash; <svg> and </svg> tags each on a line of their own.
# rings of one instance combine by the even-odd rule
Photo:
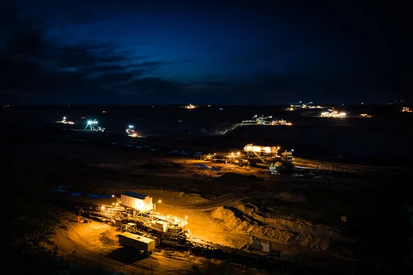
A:
<svg viewBox="0 0 413 275">
<path fill-rule="evenodd" d="M 0 102 L 409 100 L 407 1 L 350 2 L 3 0 Z"/>
</svg>

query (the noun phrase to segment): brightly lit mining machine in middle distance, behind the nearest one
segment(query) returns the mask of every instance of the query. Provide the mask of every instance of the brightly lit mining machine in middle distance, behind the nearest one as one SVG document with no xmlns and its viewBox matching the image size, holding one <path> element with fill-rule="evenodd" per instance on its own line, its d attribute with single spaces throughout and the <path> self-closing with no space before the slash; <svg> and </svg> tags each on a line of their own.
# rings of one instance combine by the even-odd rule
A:
<svg viewBox="0 0 413 275">
<path fill-rule="evenodd" d="M 226 164 L 238 164 L 240 166 L 248 166 L 254 163 L 280 172 L 293 170 L 293 150 L 284 152 L 279 152 L 279 150 L 279 146 L 247 144 L 242 151 L 198 155 L 198 158 L 213 162 L 225 162 Z"/>
</svg>

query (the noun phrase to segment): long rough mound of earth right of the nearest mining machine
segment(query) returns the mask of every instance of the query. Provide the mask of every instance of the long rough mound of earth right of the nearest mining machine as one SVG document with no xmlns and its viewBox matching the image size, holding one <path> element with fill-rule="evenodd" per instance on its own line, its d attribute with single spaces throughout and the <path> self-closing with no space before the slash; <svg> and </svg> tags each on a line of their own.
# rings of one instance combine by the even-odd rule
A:
<svg viewBox="0 0 413 275">
<path fill-rule="evenodd" d="M 237 215 L 235 215 L 235 212 Z M 262 222 L 257 221 L 253 217 L 248 217 L 248 215 L 243 214 L 240 210 L 235 209 L 234 211 L 221 206 L 219 208 L 215 208 L 215 210 L 211 213 L 211 216 L 215 219 L 221 220 L 226 228 L 248 232 L 254 234 L 255 236 L 262 236 L 264 238 L 275 239 L 277 241 L 299 243 L 306 248 L 320 250 L 327 250 L 329 246 L 328 239 L 324 239 L 321 236 L 300 234 L 299 232 L 288 230 L 288 227 L 285 226 L 273 228 L 272 226 L 264 225 Z"/>
</svg>

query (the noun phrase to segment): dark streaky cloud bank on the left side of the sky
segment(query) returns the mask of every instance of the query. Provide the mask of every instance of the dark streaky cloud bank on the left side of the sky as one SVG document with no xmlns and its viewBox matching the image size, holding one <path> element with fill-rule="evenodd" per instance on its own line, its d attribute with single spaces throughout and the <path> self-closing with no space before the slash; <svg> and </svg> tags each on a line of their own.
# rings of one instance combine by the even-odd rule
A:
<svg viewBox="0 0 413 275">
<path fill-rule="evenodd" d="M 21 10 L 2 10 L 2 32 L 8 34 L 0 52 L 3 72 L 0 99 L 8 102 L 36 102 L 36 98 L 84 95 L 96 102 L 121 96 L 167 96 L 183 87 L 149 74 L 156 69 L 188 61 L 153 61 L 114 45 L 83 42 L 61 47 L 46 41 L 41 21 L 19 19 Z M 14 24 L 9 30 L 10 24 Z M 93 100 L 92 100 L 93 99 Z"/>
</svg>

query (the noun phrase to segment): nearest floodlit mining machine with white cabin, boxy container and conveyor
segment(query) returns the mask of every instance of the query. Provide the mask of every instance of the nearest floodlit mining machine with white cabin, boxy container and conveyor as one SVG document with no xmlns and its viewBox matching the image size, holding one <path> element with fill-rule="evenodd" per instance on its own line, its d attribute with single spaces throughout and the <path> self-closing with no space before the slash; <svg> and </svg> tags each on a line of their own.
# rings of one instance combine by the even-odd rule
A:
<svg viewBox="0 0 413 275">
<path fill-rule="evenodd" d="M 78 215 L 78 222 L 81 221 L 81 215 L 104 222 L 112 221 L 116 228 L 120 228 L 120 245 L 140 250 L 143 254 L 149 254 L 156 246 L 163 244 L 173 245 L 173 248 L 182 248 L 199 256 L 226 259 L 231 255 L 232 259 L 238 259 L 240 263 L 251 263 L 251 260 L 254 260 L 271 263 L 273 267 L 278 266 L 287 270 L 301 268 L 301 265 L 285 259 L 281 251 L 273 250 L 271 243 L 255 236 L 251 237 L 249 245 L 246 244 L 240 249 L 198 239 L 189 230 L 184 229 L 188 224 L 187 217 L 182 219 L 156 212 L 156 204 L 161 201 L 153 203 L 152 198 L 147 195 L 125 191 L 120 199 L 114 195 L 112 197 L 116 199 L 112 206 L 61 199 L 56 202 L 71 206 Z"/>
</svg>

